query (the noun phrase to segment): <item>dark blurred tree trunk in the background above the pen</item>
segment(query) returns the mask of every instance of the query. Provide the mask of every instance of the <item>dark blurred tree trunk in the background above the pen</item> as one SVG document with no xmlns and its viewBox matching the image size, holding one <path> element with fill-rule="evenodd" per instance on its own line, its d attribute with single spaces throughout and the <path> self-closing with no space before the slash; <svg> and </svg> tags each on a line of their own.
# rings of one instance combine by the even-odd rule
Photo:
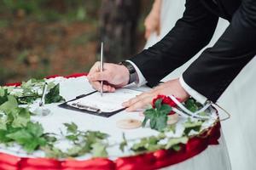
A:
<svg viewBox="0 0 256 170">
<path fill-rule="evenodd" d="M 106 62 L 119 62 L 136 53 L 139 0 L 102 0 L 100 32 Z"/>
</svg>

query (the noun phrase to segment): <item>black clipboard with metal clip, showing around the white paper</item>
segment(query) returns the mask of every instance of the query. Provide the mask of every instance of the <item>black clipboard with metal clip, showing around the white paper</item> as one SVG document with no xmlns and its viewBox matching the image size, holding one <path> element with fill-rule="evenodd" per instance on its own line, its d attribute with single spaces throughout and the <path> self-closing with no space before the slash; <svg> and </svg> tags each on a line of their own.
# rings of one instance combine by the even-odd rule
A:
<svg viewBox="0 0 256 170">
<path fill-rule="evenodd" d="M 110 116 L 113 116 L 113 115 L 115 115 L 116 113 L 118 113 L 120 111 L 124 111 L 125 110 L 125 108 L 121 108 L 121 109 L 119 109 L 117 111 L 104 112 L 104 111 L 101 111 L 100 109 L 93 108 L 93 107 L 90 107 L 90 106 L 85 106 L 85 105 L 73 105 L 73 106 L 72 105 L 67 105 L 68 102 L 84 98 L 84 97 L 86 97 L 86 96 L 88 96 L 90 94 L 95 94 L 96 92 L 97 91 L 91 92 L 89 94 L 79 95 L 75 99 L 68 100 L 65 103 L 63 103 L 61 105 L 58 105 L 58 106 L 61 107 L 61 108 L 64 108 L 64 109 L 68 109 L 68 110 L 80 111 L 80 112 L 88 113 L 90 115 L 103 116 L 103 117 L 110 117 Z"/>
</svg>

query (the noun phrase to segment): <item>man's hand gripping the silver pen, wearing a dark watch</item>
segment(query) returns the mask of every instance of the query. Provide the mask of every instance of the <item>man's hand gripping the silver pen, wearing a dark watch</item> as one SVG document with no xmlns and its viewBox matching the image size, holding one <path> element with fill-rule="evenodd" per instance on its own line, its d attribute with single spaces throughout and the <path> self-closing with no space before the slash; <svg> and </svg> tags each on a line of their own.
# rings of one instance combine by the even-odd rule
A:
<svg viewBox="0 0 256 170">
<path fill-rule="evenodd" d="M 89 71 L 88 80 L 93 88 L 101 89 L 101 81 L 104 81 L 103 92 L 114 92 L 115 88 L 121 88 L 129 82 L 130 73 L 124 65 L 104 63 L 101 72 L 100 62 L 96 62 Z"/>
</svg>

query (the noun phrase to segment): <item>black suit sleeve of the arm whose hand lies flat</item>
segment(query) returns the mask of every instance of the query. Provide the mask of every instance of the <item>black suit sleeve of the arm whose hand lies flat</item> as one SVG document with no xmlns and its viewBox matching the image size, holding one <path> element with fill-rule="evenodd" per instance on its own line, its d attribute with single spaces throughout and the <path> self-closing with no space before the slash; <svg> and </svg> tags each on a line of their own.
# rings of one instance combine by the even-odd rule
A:
<svg viewBox="0 0 256 170">
<path fill-rule="evenodd" d="M 183 72 L 183 79 L 215 102 L 255 54 L 256 1 L 243 0 L 222 37 Z"/>
</svg>

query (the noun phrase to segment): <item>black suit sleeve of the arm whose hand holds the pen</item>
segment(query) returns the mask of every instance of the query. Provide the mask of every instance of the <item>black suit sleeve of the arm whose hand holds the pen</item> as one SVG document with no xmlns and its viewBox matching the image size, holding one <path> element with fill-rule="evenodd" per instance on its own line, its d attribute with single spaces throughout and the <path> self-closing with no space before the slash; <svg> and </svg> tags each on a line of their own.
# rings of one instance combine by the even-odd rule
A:
<svg viewBox="0 0 256 170">
<path fill-rule="evenodd" d="M 205 47 L 217 23 L 218 16 L 209 12 L 199 0 L 187 0 L 183 18 L 177 21 L 172 31 L 131 61 L 152 87 Z"/>
</svg>

